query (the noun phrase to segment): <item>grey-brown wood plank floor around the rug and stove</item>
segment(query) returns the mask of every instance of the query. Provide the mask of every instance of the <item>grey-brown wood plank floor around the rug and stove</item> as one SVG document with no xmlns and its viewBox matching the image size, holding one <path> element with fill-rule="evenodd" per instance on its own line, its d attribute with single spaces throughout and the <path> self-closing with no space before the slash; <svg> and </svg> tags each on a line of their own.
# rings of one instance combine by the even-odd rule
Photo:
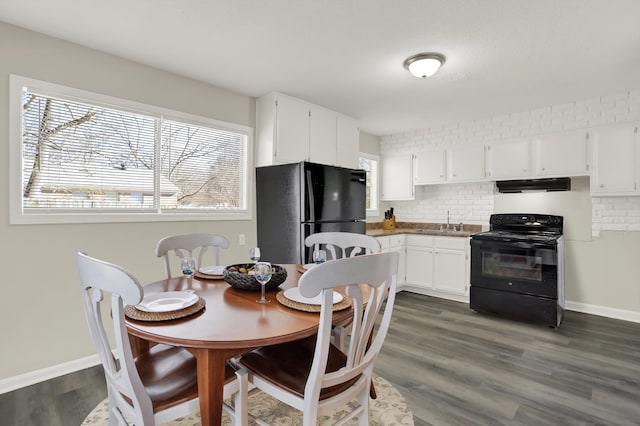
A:
<svg viewBox="0 0 640 426">
<path fill-rule="evenodd" d="M 420 425 L 640 425 L 640 324 L 567 312 L 558 330 L 398 294 L 376 371 Z M 99 367 L 0 395 L 2 425 L 79 425 Z"/>
</svg>

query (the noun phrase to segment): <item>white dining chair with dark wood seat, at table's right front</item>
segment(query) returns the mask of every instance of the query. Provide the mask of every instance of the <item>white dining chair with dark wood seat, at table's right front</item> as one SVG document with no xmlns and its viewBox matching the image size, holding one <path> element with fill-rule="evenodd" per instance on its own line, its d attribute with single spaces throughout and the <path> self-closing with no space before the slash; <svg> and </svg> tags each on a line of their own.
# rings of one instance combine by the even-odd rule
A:
<svg viewBox="0 0 640 426">
<path fill-rule="evenodd" d="M 357 403 L 350 404 L 353 409 L 337 424 L 358 417 L 360 426 L 368 425 L 371 375 L 391 322 L 398 258 L 397 252 L 367 254 L 326 262 L 305 272 L 300 293 L 322 295 L 317 335 L 243 354 L 239 364 L 247 369 L 249 382 L 302 411 L 305 426 L 316 425 L 319 415 L 332 415 L 353 400 Z M 355 318 L 347 353 L 331 343 L 333 289 L 343 285 Z M 370 289 L 367 300 L 360 285 Z"/>
</svg>

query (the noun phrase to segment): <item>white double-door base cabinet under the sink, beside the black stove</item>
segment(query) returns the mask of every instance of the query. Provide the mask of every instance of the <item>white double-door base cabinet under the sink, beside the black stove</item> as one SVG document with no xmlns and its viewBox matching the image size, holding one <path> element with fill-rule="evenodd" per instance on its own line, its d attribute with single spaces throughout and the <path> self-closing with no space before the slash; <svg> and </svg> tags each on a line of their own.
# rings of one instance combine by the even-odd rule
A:
<svg viewBox="0 0 640 426">
<path fill-rule="evenodd" d="M 407 235 L 406 289 L 468 300 L 469 239 Z"/>
</svg>

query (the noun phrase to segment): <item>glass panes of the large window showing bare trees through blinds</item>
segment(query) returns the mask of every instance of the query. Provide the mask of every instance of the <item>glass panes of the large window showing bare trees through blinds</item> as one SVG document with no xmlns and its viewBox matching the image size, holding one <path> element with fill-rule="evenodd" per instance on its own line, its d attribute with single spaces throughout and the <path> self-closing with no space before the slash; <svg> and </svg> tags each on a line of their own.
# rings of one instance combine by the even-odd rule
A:
<svg viewBox="0 0 640 426">
<path fill-rule="evenodd" d="M 25 208 L 243 208 L 245 135 L 28 91 L 22 122 Z"/>
</svg>

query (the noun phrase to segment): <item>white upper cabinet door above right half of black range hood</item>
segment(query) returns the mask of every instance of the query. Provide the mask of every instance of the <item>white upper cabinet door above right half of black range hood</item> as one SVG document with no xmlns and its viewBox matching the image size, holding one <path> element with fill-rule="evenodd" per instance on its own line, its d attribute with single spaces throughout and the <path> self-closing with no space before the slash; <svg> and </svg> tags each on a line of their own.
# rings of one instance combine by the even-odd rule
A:
<svg viewBox="0 0 640 426">
<path fill-rule="evenodd" d="M 589 175 L 589 144 L 585 129 L 548 133 L 534 138 L 535 175 Z"/>
</svg>

